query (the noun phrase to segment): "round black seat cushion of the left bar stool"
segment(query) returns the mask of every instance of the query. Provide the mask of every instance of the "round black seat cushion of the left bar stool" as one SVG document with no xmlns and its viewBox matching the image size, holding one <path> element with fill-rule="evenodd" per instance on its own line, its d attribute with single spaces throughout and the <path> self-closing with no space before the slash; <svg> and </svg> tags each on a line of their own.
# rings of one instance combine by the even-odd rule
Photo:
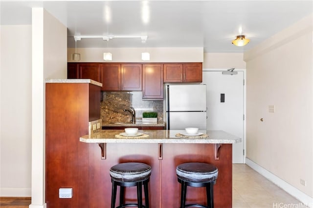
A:
<svg viewBox="0 0 313 208">
<path fill-rule="evenodd" d="M 141 181 L 150 177 L 151 167 L 144 163 L 120 163 L 111 167 L 110 175 L 116 181 Z"/>
</svg>

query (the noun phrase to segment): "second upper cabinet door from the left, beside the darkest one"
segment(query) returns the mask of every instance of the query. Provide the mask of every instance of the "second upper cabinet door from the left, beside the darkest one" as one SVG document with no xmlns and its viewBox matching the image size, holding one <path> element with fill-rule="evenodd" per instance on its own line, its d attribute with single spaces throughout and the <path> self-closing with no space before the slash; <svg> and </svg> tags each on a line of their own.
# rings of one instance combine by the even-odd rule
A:
<svg viewBox="0 0 313 208">
<path fill-rule="evenodd" d="M 102 83 L 102 76 L 98 63 L 79 63 L 78 77 L 80 79 L 92 79 Z"/>
</svg>

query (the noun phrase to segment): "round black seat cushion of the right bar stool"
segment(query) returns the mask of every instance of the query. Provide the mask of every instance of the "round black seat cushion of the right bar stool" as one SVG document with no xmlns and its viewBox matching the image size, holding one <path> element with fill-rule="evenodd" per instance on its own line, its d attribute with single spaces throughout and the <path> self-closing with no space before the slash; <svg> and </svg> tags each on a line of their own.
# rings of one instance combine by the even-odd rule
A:
<svg viewBox="0 0 313 208">
<path fill-rule="evenodd" d="M 179 179 L 190 182 L 214 182 L 218 176 L 218 169 L 208 163 L 183 163 L 177 166 Z"/>
</svg>

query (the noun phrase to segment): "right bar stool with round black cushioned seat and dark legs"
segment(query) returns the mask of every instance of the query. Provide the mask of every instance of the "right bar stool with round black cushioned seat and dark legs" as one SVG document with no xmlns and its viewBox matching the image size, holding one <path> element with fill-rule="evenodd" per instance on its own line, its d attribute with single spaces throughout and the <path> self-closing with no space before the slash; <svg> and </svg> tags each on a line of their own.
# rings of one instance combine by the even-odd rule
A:
<svg viewBox="0 0 313 208">
<path fill-rule="evenodd" d="M 183 163 L 177 166 L 176 174 L 178 177 L 178 182 L 181 184 L 180 208 L 214 208 L 213 185 L 216 183 L 216 179 L 218 176 L 218 169 L 214 165 L 197 162 Z M 186 205 L 187 186 L 205 187 L 207 206 L 200 204 Z"/>
</svg>

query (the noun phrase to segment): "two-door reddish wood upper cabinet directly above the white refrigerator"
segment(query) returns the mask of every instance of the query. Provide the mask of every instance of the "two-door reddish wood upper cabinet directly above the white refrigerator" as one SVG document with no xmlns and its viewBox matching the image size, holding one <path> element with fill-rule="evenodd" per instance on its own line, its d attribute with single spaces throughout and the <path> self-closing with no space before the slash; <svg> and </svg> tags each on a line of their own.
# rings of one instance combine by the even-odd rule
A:
<svg viewBox="0 0 313 208">
<path fill-rule="evenodd" d="M 164 64 L 164 82 L 202 82 L 202 63 Z"/>
</svg>

